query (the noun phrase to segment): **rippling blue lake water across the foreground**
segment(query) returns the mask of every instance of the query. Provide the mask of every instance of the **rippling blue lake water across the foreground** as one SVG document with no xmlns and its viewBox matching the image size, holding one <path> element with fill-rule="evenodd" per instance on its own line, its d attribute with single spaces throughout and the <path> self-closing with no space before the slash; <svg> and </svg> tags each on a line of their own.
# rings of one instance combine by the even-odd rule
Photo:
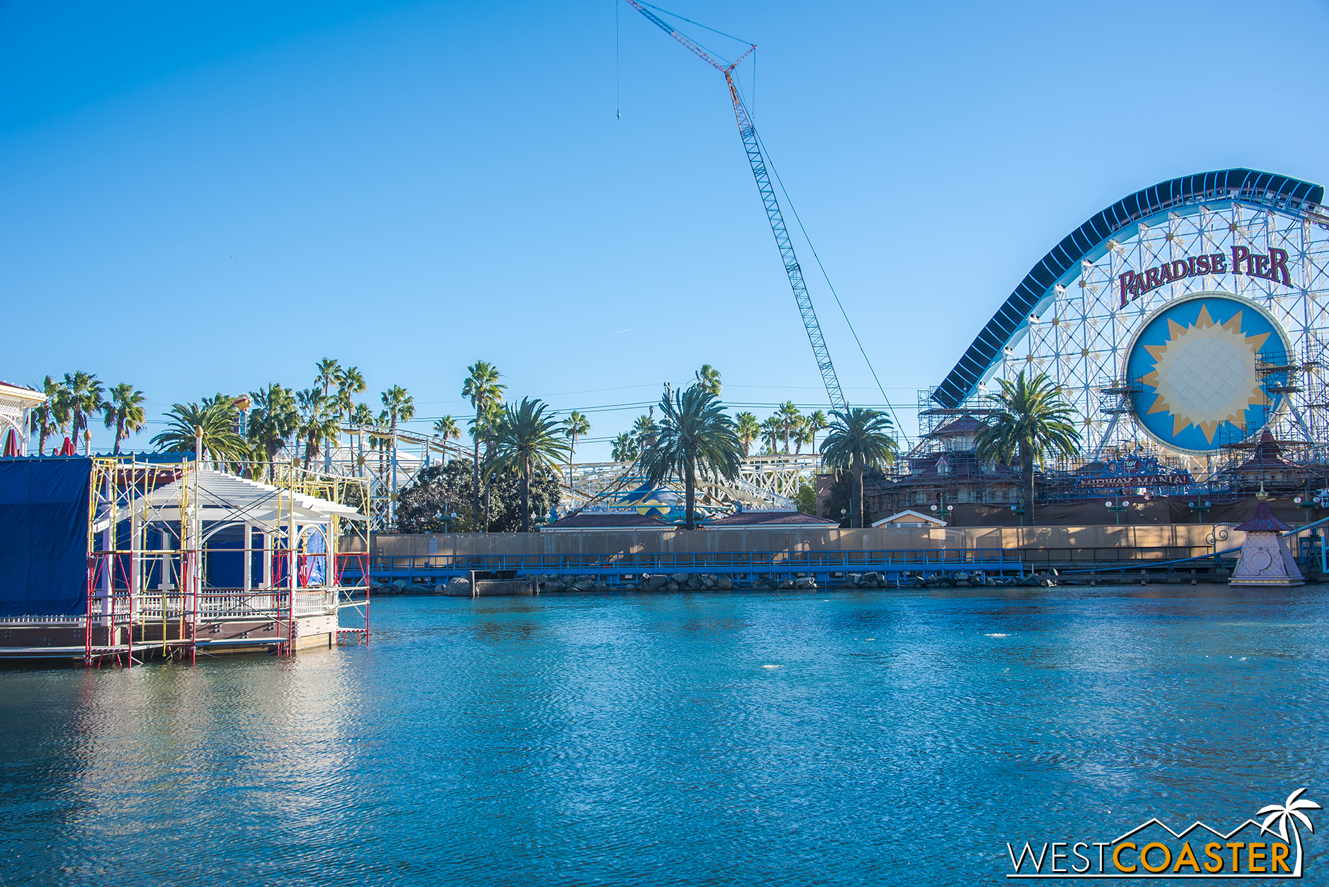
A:
<svg viewBox="0 0 1329 887">
<path fill-rule="evenodd" d="M 11 669 L 0 883 L 1003 883 L 1006 841 L 1329 805 L 1326 616 L 1317 587 L 387 598 L 367 648 Z"/>
</svg>

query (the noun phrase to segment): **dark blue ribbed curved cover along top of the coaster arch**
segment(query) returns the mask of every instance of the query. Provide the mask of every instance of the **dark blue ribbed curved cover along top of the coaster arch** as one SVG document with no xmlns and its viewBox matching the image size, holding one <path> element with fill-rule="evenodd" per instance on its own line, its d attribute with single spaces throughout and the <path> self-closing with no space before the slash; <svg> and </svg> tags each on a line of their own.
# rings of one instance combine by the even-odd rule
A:
<svg viewBox="0 0 1329 887">
<path fill-rule="evenodd" d="M 1167 210 L 1215 199 L 1215 194 L 1231 194 L 1228 199 L 1261 207 L 1296 210 L 1302 203 L 1322 203 L 1325 190 L 1318 185 L 1286 175 L 1232 169 L 1159 182 L 1154 187 L 1122 198 L 1067 234 L 1025 275 L 932 398 L 942 406 L 960 406 L 989 368 L 1001 360 L 1002 349 L 1029 323 L 1029 316 L 1053 291 L 1057 282 L 1067 271 L 1078 268 L 1080 259 L 1099 248 L 1104 240 Z"/>
</svg>

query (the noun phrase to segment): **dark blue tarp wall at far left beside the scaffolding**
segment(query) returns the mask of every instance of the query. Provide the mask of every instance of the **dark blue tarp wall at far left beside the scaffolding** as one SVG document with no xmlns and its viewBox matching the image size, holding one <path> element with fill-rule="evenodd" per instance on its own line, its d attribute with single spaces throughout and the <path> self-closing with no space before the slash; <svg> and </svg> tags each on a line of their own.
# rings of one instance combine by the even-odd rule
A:
<svg viewBox="0 0 1329 887">
<path fill-rule="evenodd" d="M 0 459 L 0 619 L 88 608 L 92 459 Z"/>
</svg>

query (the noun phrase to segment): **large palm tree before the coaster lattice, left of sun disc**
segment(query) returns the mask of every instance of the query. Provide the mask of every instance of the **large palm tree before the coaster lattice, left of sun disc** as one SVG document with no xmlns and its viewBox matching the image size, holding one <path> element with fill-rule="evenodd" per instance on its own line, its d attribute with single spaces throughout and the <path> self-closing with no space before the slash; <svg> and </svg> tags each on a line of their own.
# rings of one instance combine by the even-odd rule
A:
<svg viewBox="0 0 1329 887">
<path fill-rule="evenodd" d="M 1034 462 L 1079 451 L 1079 429 L 1071 422 L 1075 410 L 1062 400 L 1063 389 L 1039 373 L 1031 380 L 1023 370 L 1014 382 L 998 378 L 1001 394 L 989 394 L 999 409 L 987 416 L 974 438 L 978 462 L 1010 465 L 1019 459 L 1025 511 L 1034 523 Z"/>
</svg>

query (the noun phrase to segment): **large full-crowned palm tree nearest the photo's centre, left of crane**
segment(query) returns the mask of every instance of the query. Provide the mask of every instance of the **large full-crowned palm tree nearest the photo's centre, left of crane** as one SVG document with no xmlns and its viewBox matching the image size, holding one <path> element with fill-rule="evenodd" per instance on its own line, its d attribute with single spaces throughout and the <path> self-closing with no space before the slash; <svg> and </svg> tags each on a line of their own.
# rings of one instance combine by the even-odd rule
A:
<svg viewBox="0 0 1329 887">
<path fill-rule="evenodd" d="M 734 420 L 719 398 L 702 385 L 661 398 L 661 432 L 642 455 L 642 470 L 655 485 L 671 474 L 683 478 L 687 530 L 696 528 L 696 475 L 734 479 L 743 447 Z"/>
</svg>

